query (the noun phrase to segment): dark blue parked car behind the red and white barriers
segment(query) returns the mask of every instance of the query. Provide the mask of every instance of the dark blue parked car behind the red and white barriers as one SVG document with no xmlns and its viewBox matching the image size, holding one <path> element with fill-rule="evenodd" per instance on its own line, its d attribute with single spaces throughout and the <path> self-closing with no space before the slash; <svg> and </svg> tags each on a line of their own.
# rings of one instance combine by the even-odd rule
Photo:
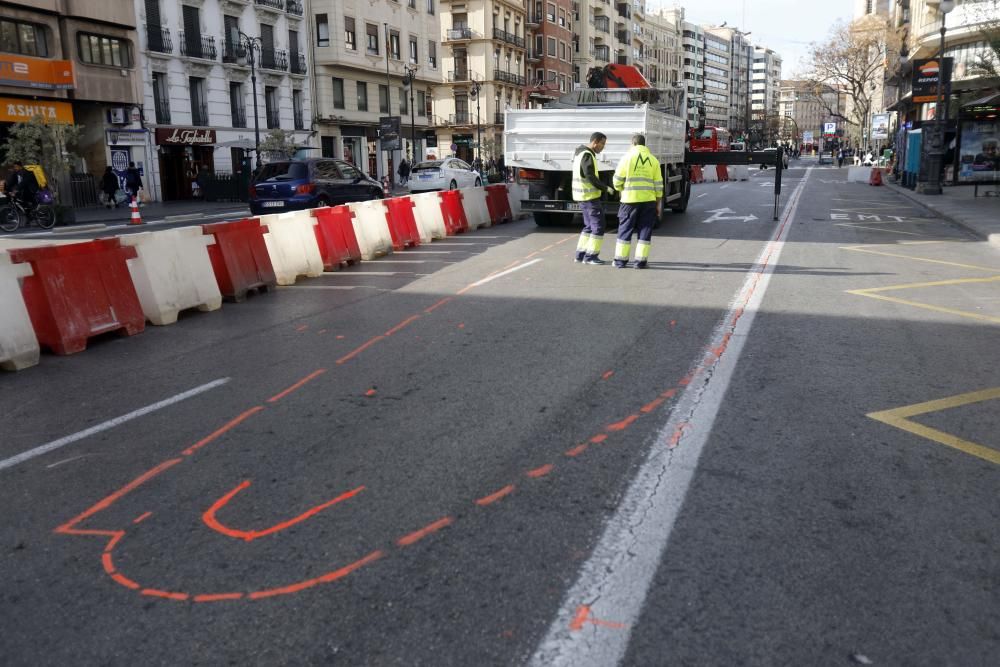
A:
<svg viewBox="0 0 1000 667">
<path fill-rule="evenodd" d="M 281 213 L 381 199 L 381 184 L 343 160 L 309 158 L 270 162 L 250 184 L 250 212 Z"/>
</svg>

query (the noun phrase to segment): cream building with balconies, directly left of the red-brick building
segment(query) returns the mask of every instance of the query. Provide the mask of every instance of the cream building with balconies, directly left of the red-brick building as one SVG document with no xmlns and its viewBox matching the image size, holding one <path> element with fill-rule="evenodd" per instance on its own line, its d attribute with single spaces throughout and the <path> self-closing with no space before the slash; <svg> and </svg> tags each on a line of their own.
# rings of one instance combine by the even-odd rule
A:
<svg viewBox="0 0 1000 667">
<path fill-rule="evenodd" d="M 538 8 L 532 3 L 532 9 Z M 532 13 L 532 20 L 544 19 L 555 26 L 543 33 L 547 57 L 550 36 L 556 42 L 560 61 L 571 62 L 570 34 L 559 30 L 559 12 L 568 21 L 567 3 L 548 0 L 544 16 Z M 441 6 L 441 63 L 444 82 L 434 88 L 434 122 L 441 152 L 471 161 L 481 155 L 485 161 L 502 152 L 503 111 L 525 106 L 528 88 L 528 3 L 526 0 L 466 0 Z M 542 27 L 535 24 L 534 30 Z M 558 35 L 563 35 L 560 40 Z M 537 36 L 536 36 L 537 37 Z M 565 59 L 560 42 L 566 43 Z M 534 46 L 534 45 L 533 45 Z M 534 63 L 533 63 L 534 65 Z M 537 67 L 533 67 L 537 75 Z M 545 68 L 543 68 L 545 69 Z M 548 70 L 545 69 L 548 77 Z M 553 70 L 558 79 L 559 72 Z M 479 144 L 482 144 L 480 147 Z"/>
</svg>

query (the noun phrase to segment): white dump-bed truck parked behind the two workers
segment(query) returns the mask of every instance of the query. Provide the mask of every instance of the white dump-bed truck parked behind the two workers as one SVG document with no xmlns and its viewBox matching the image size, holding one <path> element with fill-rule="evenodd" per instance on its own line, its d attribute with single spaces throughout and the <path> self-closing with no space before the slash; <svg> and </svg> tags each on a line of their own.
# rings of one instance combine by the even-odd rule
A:
<svg viewBox="0 0 1000 667">
<path fill-rule="evenodd" d="M 648 84 L 647 84 L 648 85 Z M 584 88 L 543 109 L 508 109 L 504 115 L 504 160 L 526 191 L 522 211 L 540 226 L 566 224 L 580 210 L 571 194 L 573 157 L 593 132 L 608 137 L 597 156 L 602 181 L 611 184 L 618 161 L 644 134 L 663 169 L 664 208 L 682 212 L 691 195 L 684 162 L 687 105 L 683 88 Z M 605 215 L 617 200 L 602 198 Z"/>
</svg>

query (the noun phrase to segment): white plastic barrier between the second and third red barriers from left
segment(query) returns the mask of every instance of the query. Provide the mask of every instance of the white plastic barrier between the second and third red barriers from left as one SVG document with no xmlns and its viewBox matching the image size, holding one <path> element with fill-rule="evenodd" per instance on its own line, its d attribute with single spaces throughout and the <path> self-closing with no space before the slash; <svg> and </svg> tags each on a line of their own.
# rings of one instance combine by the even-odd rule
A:
<svg viewBox="0 0 1000 667">
<path fill-rule="evenodd" d="M 319 221 L 309 211 L 262 215 L 258 219 L 267 225 L 264 243 L 279 285 L 294 285 L 299 276 L 323 275 L 323 256 L 313 230 Z"/>
</svg>

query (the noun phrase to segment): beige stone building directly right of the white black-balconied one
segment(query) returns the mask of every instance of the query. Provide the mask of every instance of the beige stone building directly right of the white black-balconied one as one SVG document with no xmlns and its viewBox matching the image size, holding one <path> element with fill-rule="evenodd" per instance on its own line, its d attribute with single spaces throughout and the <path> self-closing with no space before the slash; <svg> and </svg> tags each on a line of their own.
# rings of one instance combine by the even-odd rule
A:
<svg viewBox="0 0 1000 667">
<path fill-rule="evenodd" d="M 446 72 L 441 4 L 446 3 L 312 0 L 313 85 L 323 156 L 395 181 L 404 156 L 420 161 L 439 150 L 432 90 Z M 395 120 L 380 130 L 383 119 Z"/>
</svg>

